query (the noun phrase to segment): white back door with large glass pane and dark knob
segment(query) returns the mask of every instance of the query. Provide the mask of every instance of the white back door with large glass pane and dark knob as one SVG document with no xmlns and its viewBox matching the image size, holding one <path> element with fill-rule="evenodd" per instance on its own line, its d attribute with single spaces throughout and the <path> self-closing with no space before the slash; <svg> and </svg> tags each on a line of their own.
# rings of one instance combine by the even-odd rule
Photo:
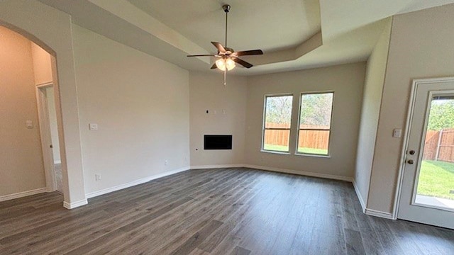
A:
<svg viewBox="0 0 454 255">
<path fill-rule="evenodd" d="M 454 79 L 414 82 L 397 217 L 454 229 Z"/>
</svg>

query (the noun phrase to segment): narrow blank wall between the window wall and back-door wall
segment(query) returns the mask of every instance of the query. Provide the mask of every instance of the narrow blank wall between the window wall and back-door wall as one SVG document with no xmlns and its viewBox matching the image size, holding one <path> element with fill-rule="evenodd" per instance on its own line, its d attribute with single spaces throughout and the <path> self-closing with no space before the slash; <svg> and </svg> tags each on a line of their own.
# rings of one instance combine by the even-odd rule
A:
<svg viewBox="0 0 454 255">
<path fill-rule="evenodd" d="M 360 133 L 358 137 L 358 154 L 355 167 L 355 185 L 360 192 L 362 205 L 366 205 L 369 193 L 370 171 L 377 137 L 377 124 L 382 102 L 384 73 L 388 60 L 389 36 L 391 35 L 392 18 L 387 21 L 372 55 L 367 60 L 367 71 L 362 96 Z"/>
</svg>

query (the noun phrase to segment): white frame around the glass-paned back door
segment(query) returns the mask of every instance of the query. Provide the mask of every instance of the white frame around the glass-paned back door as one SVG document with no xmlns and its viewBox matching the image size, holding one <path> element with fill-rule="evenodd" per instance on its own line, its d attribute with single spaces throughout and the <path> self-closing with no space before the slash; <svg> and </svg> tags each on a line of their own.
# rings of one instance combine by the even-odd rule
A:
<svg viewBox="0 0 454 255">
<path fill-rule="evenodd" d="M 404 181 L 404 169 L 406 162 L 406 151 L 408 150 L 409 135 L 410 135 L 410 125 L 413 120 L 414 104 L 416 99 L 416 91 L 421 84 L 438 84 L 444 82 L 454 82 L 454 77 L 442 77 L 442 78 L 426 78 L 426 79 L 414 79 L 411 84 L 410 91 L 410 100 L 409 108 L 407 110 L 406 124 L 405 124 L 405 135 L 402 145 L 400 164 L 399 164 L 399 173 L 397 175 L 397 187 L 396 194 L 394 196 L 394 210 L 392 212 L 392 219 L 397 220 L 397 214 L 399 212 L 399 202 L 402 193 L 402 182 Z"/>
</svg>

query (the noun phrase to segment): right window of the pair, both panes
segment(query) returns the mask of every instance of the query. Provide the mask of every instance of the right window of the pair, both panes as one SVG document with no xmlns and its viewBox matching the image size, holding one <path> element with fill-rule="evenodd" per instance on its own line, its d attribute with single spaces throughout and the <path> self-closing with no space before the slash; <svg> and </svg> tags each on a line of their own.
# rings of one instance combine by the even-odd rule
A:
<svg viewBox="0 0 454 255">
<path fill-rule="evenodd" d="M 328 156 L 333 92 L 301 94 L 297 153 Z"/>
</svg>

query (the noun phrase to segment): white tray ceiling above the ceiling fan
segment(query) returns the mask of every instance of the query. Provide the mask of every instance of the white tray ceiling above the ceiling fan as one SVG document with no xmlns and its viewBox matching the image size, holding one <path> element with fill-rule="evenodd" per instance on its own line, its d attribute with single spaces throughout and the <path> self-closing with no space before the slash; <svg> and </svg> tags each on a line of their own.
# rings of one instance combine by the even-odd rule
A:
<svg viewBox="0 0 454 255">
<path fill-rule="evenodd" d="M 39 0 L 70 13 L 79 26 L 189 70 L 209 70 L 210 41 L 262 49 L 233 74 L 263 74 L 367 60 L 384 18 L 454 0 Z"/>
</svg>

